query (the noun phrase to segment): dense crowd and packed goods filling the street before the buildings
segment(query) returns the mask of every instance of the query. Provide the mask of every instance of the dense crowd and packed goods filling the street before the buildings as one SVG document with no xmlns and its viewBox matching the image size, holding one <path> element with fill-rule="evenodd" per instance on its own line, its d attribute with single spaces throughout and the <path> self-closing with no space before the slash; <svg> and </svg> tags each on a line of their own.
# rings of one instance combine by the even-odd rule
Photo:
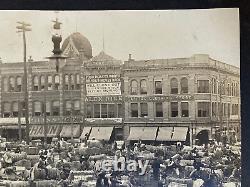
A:
<svg viewBox="0 0 250 187">
<path fill-rule="evenodd" d="M 0 179 L 5 184 L 25 181 L 30 186 L 62 187 L 178 184 L 220 187 L 229 183 L 240 186 L 240 150 L 217 142 L 190 147 L 181 142 L 155 146 L 139 140 L 118 146 L 116 142 L 110 144 L 95 139 L 82 143 L 61 139 L 46 148 L 42 144 L 26 145 L 25 142 L 14 145 L 5 144 L 1 150 Z M 101 165 L 107 160 L 117 161 L 118 169 L 104 170 Z M 127 167 L 128 160 L 135 161 L 132 171 Z M 147 166 L 145 172 L 142 166 Z M 41 181 L 47 183 L 41 185 Z"/>
</svg>

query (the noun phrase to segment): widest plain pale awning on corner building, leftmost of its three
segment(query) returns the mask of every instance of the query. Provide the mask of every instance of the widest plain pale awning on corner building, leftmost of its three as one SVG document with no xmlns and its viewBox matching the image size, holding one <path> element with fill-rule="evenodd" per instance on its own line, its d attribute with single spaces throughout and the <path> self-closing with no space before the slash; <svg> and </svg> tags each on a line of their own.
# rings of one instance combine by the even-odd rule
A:
<svg viewBox="0 0 250 187">
<path fill-rule="evenodd" d="M 130 127 L 127 140 L 155 140 L 158 127 Z"/>
</svg>

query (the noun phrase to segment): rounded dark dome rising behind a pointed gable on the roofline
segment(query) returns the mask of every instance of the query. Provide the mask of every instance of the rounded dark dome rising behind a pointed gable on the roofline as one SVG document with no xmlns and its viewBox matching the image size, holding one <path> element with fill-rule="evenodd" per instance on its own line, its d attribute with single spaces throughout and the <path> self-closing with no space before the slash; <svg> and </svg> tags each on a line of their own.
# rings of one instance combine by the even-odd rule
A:
<svg viewBox="0 0 250 187">
<path fill-rule="evenodd" d="M 63 41 L 63 44 L 62 44 L 63 53 L 65 53 L 67 48 L 69 48 L 68 47 L 69 45 L 72 45 L 71 50 L 72 49 L 77 50 L 77 51 L 74 51 L 75 53 L 79 54 L 82 51 L 85 57 L 87 57 L 88 59 L 92 58 L 92 46 L 89 40 L 85 36 L 83 36 L 81 33 L 75 32 L 69 35 Z"/>
</svg>

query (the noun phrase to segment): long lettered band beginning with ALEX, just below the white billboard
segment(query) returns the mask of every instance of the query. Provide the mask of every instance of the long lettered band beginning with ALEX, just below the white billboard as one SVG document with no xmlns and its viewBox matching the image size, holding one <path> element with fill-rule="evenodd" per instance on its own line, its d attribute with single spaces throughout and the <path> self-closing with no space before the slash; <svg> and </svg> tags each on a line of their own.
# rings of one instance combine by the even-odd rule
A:
<svg viewBox="0 0 250 187">
<path fill-rule="evenodd" d="M 191 100 L 191 95 L 171 96 L 87 96 L 85 102 L 164 102 L 175 100 Z"/>
</svg>

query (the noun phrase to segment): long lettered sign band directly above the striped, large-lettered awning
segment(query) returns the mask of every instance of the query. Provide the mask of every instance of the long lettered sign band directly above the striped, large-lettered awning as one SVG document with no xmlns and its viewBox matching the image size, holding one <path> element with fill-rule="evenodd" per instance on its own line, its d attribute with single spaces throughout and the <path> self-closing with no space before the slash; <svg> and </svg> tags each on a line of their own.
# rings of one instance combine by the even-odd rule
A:
<svg viewBox="0 0 250 187">
<path fill-rule="evenodd" d="M 84 118 L 82 116 L 47 116 L 47 123 L 83 123 Z M 31 124 L 43 124 L 44 117 L 31 117 Z"/>
</svg>

